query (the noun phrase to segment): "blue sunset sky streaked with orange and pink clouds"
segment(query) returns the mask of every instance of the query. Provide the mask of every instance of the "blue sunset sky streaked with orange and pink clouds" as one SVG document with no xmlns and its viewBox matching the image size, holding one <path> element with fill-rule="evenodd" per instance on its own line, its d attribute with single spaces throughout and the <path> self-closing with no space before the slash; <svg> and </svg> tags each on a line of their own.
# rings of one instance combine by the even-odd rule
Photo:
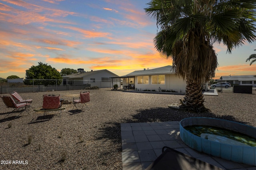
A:
<svg viewBox="0 0 256 170">
<path fill-rule="evenodd" d="M 144 12 L 150 0 L 0 0 L 0 77 L 25 78 L 38 62 L 62 68 L 107 69 L 118 76 L 172 65 L 154 48 L 159 31 Z M 216 78 L 256 75 L 256 43 L 226 53 L 214 45 Z"/>
</svg>

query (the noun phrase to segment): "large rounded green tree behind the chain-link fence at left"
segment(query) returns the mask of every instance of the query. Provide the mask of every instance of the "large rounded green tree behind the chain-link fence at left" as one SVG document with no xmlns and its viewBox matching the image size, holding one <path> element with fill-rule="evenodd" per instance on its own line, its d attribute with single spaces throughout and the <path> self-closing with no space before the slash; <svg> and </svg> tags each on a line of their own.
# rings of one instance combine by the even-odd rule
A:
<svg viewBox="0 0 256 170">
<path fill-rule="evenodd" d="M 28 70 L 26 70 L 26 79 L 38 79 L 34 80 L 34 85 L 43 84 L 44 86 L 47 85 L 54 85 L 61 84 L 62 76 L 60 72 L 52 66 L 39 62 L 38 66 L 31 66 Z M 24 80 L 24 84 L 32 85 L 33 80 Z"/>
</svg>

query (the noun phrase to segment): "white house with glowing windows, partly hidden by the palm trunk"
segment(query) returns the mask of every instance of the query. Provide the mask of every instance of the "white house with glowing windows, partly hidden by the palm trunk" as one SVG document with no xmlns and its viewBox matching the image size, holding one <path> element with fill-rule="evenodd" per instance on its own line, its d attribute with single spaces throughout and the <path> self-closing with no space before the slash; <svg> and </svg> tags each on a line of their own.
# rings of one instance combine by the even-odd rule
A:
<svg viewBox="0 0 256 170">
<path fill-rule="evenodd" d="M 176 76 L 172 66 L 164 66 L 154 69 L 145 69 L 131 72 L 123 79 L 123 87 L 129 89 L 142 90 L 173 90 L 185 93 L 186 82 Z"/>
</svg>

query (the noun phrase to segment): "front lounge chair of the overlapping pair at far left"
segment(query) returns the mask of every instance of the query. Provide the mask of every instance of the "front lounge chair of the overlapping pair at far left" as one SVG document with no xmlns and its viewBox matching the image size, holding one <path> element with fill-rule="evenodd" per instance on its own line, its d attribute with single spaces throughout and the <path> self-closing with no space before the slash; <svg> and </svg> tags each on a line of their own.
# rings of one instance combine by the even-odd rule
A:
<svg viewBox="0 0 256 170">
<path fill-rule="evenodd" d="M 30 115 L 30 113 L 26 110 L 28 107 L 30 107 L 30 103 L 15 103 L 13 98 L 11 98 L 10 96 L 1 96 L 1 98 L 6 107 L 14 108 L 14 110 L 12 112 L 18 111 L 18 112 L 22 113 L 22 111 L 26 111 Z"/>
</svg>

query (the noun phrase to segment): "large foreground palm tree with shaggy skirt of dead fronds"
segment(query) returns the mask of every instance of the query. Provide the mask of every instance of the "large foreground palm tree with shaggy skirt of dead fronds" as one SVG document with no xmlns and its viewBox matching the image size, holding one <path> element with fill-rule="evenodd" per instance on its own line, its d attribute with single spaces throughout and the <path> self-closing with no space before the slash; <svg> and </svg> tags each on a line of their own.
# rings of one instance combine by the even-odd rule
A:
<svg viewBox="0 0 256 170">
<path fill-rule="evenodd" d="M 186 80 L 182 107 L 204 107 L 202 83 L 218 66 L 213 44 L 223 43 L 227 52 L 256 40 L 255 0 L 151 0 L 146 14 L 156 19 L 160 31 L 154 45 L 160 55 L 172 58 L 176 74 Z"/>
</svg>

